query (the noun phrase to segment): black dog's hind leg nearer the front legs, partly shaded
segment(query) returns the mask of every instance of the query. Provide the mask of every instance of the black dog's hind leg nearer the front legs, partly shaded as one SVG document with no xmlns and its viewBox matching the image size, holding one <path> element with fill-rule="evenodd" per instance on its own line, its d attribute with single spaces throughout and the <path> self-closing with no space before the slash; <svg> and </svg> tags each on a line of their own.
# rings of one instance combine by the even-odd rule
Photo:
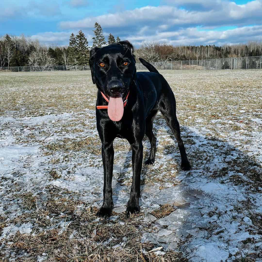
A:
<svg viewBox="0 0 262 262">
<path fill-rule="evenodd" d="M 151 111 L 151 113 L 146 118 L 146 136 L 149 138 L 151 149 L 150 149 L 150 156 L 148 160 L 145 161 L 146 165 L 153 164 L 155 162 L 155 155 L 156 155 L 156 137 L 153 134 L 153 120 L 157 113 L 157 110 Z"/>
</svg>

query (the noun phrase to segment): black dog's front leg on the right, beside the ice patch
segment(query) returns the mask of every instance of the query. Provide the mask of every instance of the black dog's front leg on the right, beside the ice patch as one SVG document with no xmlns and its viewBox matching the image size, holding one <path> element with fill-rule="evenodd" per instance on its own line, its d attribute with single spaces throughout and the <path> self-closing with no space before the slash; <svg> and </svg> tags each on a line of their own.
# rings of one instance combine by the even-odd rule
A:
<svg viewBox="0 0 262 262">
<path fill-rule="evenodd" d="M 133 165 L 133 182 L 130 191 L 130 198 L 127 203 L 126 216 L 130 213 L 140 212 L 139 196 L 140 196 L 140 174 L 143 162 L 143 144 L 142 141 L 131 144 L 132 147 L 132 165 Z"/>
</svg>

